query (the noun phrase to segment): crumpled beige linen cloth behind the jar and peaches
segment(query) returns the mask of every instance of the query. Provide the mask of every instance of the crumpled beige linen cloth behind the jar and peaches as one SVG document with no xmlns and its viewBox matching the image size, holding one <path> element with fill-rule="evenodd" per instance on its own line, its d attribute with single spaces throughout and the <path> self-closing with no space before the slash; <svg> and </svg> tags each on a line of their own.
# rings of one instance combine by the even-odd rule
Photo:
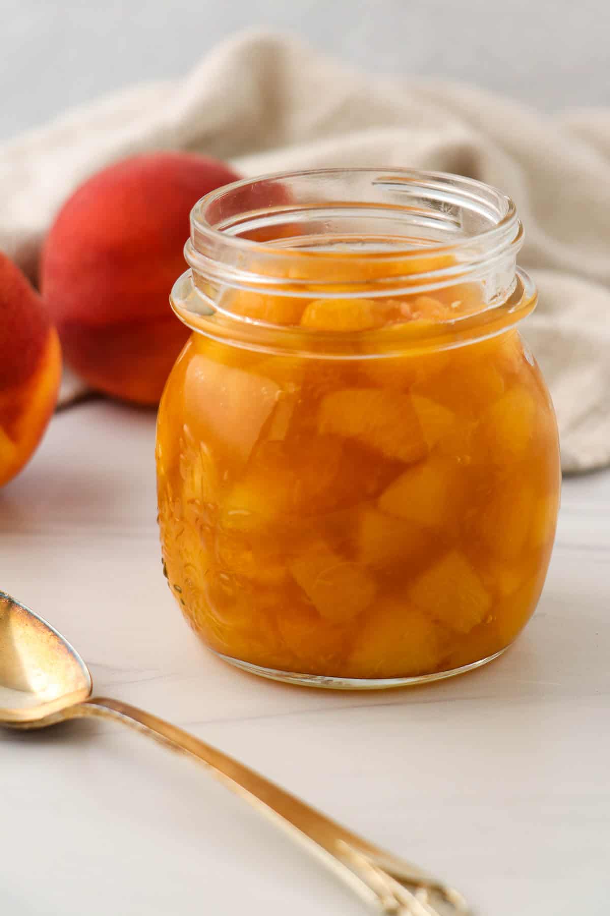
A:
<svg viewBox="0 0 610 916">
<path fill-rule="evenodd" d="M 551 387 L 565 471 L 610 463 L 610 110 L 544 116 L 472 86 L 350 71 L 249 31 L 186 77 L 137 85 L 0 147 L 0 248 L 35 276 L 53 214 L 133 153 L 180 148 L 246 176 L 323 166 L 458 172 L 508 192 L 540 289 L 525 333 Z"/>
</svg>

